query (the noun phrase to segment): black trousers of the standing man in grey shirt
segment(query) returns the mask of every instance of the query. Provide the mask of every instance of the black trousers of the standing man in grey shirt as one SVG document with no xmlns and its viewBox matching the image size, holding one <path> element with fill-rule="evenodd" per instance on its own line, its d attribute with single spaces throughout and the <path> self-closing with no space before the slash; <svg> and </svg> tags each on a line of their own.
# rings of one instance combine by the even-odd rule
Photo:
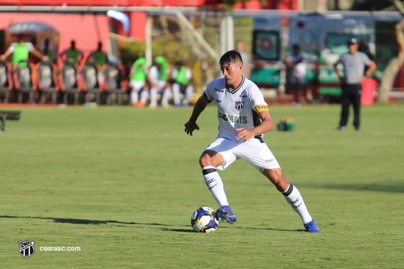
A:
<svg viewBox="0 0 404 269">
<path fill-rule="evenodd" d="M 341 97 L 341 120 L 339 126 L 346 126 L 349 116 L 349 106 L 354 106 L 354 126 L 360 126 L 360 111 L 361 111 L 361 84 L 342 84 Z"/>
</svg>

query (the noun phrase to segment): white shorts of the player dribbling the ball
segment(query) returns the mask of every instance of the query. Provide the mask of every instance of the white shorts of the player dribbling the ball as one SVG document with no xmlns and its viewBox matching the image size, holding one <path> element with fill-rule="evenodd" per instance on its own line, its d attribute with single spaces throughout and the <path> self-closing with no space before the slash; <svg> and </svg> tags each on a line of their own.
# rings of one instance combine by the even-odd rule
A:
<svg viewBox="0 0 404 269">
<path fill-rule="evenodd" d="M 251 138 L 244 143 L 238 143 L 218 137 L 205 150 L 213 150 L 223 156 L 224 163 L 217 167 L 219 170 L 225 170 L 239 158 L 246 160 L 260 173 L 264 172 L 265 169 L 281 168 L 268 145 L 261 143 L 257 138 Z"/>
</svg>

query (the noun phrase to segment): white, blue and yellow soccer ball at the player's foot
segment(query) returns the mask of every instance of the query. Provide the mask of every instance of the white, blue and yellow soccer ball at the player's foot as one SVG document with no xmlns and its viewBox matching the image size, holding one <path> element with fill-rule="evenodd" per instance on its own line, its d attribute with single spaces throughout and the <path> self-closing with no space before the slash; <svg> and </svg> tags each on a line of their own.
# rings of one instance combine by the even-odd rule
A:
<svg viewBox="0 0 404 269">
<path fill-rule="evenodd" d="M 218 228 L 219 222 L 215 217 L 215 210 L 208 206 L 201 206 L 193 211 L 191 225 L 195 232 L 213 233 Z"/>
</svg>

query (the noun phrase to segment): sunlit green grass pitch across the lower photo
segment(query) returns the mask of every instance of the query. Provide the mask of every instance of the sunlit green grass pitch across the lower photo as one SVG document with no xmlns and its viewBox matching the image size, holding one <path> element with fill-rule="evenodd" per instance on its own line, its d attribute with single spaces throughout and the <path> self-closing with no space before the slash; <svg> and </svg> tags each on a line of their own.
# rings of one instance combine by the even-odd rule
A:
<svg viewBox="0 0 404 269">
<path fill-rule="evenodd" d="M 362 107 L 362 130 L 336 131 L 338 105 L 274 105 L 293 132 L 264 140 L 320 227 L 238 160 L 220 172 L 237 222 L 193 232 L 217 208 L 198 165 L 217 135 L 216 107 L 187 136 L 191 107 L 21 110 L 0 132 L 1 268 L 402 268 L 404 105 Z M 276 129 L 276 128 L 275 128 Z M 19 254 L 20 241 L 35 253 Z M 78 246 L 80 251 L 41 251 Z"/>
</svg>

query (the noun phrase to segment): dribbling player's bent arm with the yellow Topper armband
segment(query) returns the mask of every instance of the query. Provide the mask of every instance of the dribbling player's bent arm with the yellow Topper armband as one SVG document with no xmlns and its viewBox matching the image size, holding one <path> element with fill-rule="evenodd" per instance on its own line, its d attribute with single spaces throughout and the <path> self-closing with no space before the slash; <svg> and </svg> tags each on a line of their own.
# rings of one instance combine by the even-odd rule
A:
<svg viewBox="0 0 404 269">
<path fill-rule="evenodd" d="M 243 142 L 245 142 L 256 135 L 268 132 L 274 127 L 274 121 L 269 113 L 267 104 L 256 105 L 254 109 L 257 111 L 258 116 L 262 121 L 261 124 L 252 129 L 237 128 L 237 140 L 243 138 Z"/>
</svg>

